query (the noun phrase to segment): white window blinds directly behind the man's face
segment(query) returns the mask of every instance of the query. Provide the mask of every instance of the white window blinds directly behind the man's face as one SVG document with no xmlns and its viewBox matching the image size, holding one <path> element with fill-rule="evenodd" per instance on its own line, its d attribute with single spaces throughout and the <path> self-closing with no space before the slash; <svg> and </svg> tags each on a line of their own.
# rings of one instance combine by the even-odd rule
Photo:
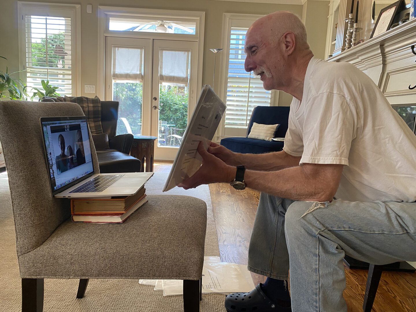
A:
<svg viewBox="0 0 416 312">
<path fill-rule="evenodd" d="M 259 76 L 244 69 L 247 30 L 231 27 L 225 127 L 247 128 L 255 106 L 270 106 L 271 92 L 263 89 Z"/>
</svg>

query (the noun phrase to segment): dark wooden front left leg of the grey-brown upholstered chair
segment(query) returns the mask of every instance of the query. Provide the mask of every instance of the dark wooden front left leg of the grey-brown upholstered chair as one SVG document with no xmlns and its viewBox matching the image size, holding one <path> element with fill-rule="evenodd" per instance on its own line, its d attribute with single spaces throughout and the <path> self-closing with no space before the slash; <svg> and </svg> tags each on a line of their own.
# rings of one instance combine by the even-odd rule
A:
<svg viewBox="0 0 416 312">
<path fill-rule="evenodd" d="M 43 278 L 22 278 L 22 312 L 43 311 Z"/>
</svg>

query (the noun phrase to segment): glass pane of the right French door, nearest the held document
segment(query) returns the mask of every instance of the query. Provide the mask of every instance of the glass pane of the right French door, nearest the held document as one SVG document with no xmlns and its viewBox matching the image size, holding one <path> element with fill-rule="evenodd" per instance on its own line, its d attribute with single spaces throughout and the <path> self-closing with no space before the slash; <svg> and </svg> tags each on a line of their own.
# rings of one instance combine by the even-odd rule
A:
<svg viewBox="0 0 416 312">
<path fill-rule="evenodd" d="M 190 51 L 159 52 L 158 146 L 179 147 L 188 124 Z"/>
</svg>

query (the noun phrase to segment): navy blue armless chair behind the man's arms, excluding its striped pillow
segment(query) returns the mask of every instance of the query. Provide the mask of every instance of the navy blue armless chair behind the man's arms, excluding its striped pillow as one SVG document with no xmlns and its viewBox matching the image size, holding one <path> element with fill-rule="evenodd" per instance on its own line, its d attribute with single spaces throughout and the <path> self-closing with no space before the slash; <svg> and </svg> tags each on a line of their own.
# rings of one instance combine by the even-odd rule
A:
<svg viewBox="0 0 416 312">
<path fill-rule="evenodd" d="M 276 130 L 275 138 L 284 138 L 289 120 L 289 110 L 289 106 L 256 106 L 251 114 L 246 137 L 225 138 L 221 140 L 220 144 L 231 151 L 243 154 L 281 151 L 283 142 L 249 139 L 247 136 L 253 122 L 256 122 L 258 124 L 280 124 Z"/>
</svg>

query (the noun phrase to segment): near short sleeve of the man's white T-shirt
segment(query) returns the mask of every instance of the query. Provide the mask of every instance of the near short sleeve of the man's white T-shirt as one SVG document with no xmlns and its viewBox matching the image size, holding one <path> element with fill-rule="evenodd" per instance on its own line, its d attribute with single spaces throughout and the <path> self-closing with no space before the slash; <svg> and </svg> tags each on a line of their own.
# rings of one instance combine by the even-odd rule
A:
<svg viewBox="0 0 416 312">
<path fill-rule="evenodd" d="M 302 163 L 348 166 L 349 149 L 356 135 L 357 113 L 341 94 L 324 92 L 306 104 Z"/>
</svg>

